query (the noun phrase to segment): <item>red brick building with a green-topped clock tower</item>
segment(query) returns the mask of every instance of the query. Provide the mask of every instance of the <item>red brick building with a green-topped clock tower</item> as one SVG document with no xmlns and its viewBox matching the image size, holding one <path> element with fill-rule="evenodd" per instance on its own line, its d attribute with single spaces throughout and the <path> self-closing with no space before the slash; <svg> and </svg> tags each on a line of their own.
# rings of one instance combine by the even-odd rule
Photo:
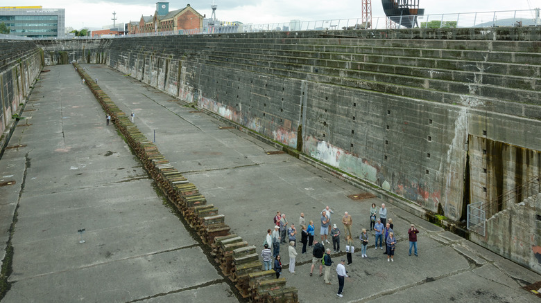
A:
<svg viewBox="0 0 541 303">
<path fill-rule="evenodd" d="M 189 4 L 185 8 L 169 12 L 169 2 L 157 2 L 153 16 L 141 16 L 139 23 L 130 21 L 128 32 L 157 33 L 203 28 L 203 18 Z"/>
</svg>

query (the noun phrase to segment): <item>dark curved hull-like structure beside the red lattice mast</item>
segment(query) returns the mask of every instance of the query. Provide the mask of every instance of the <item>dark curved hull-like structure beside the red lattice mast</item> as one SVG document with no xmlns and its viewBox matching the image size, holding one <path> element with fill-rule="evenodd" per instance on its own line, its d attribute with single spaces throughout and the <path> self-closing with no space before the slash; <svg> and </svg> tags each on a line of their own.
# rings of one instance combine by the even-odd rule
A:
<svg viewBox="0 0 541 303">
<path fill-rule="evenodd" d="M 381 0 L 385 15 L 393 22 L 413 28 L 417 16 L 424 15 L 424 8 L 419 8 L 419 0 Z"/>
</svg>

